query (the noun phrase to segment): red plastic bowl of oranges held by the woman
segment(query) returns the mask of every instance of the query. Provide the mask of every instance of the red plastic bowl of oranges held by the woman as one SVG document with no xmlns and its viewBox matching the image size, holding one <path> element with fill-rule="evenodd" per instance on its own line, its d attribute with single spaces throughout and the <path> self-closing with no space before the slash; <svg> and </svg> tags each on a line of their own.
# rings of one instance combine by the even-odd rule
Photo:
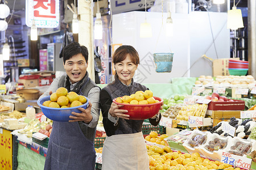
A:
<svg viewBox="0 0 256 170">
<path fill-rule="evenodd" d="M 123 103 L 118 103 L 113 100 L 115 104 L 121 104 L 123 107 L 119 109 L 124 109 L 127 110 L 128 112 L 126 114 L 129 114 L 130 120 L 144 120 L 147 118 L 151 118 L 155 116 L 160 110 L 160 107 L 163 103 L 163 99 L 160 97 L 154 97 L 155 100 L 159 100 L 158 103 L 152 103 L 152 104 L 123 104 Z"/>
</svg>

